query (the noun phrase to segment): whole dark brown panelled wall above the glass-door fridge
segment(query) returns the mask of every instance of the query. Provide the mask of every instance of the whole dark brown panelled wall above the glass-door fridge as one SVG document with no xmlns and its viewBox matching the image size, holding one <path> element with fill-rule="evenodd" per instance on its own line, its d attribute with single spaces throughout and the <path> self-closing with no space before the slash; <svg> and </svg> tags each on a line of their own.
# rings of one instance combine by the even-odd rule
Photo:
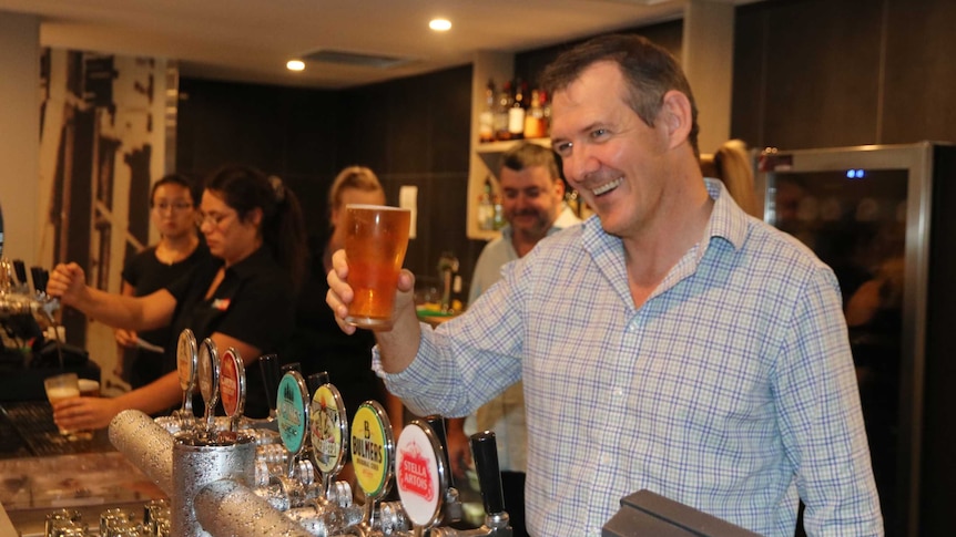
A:
<svg viewBox="0 0 956 537">
<path fill-rule="evenodd" d="M 956 141 L 956 2 L 736 10 L 732 135 L 787 149 Z"/>
</svg>

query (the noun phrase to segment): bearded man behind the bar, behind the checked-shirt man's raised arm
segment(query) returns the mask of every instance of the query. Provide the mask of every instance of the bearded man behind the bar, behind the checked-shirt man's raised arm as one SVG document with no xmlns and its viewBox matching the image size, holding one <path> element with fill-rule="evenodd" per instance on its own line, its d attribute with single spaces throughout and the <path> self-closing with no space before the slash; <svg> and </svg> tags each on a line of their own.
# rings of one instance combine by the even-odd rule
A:
<svg viewBox="0 0 956 537">
<path fill-rule="evenodd" d="M 508 225 L 501 229 L 501 236 L 488 242 L 478 257 L 469 303 L 500 279 L 502 266 L 525 257 L 548 235 L 581 221 L 565 204 L 565 182 L 558 173 L 555 153 L 550 148 L 526 142 L 509 149 L 501 156 L 498 182 L 501 187 L 501 208 Z M 448 423 L 451 466 L 459 477 L 470 459 L 464 422 L 465 419 L 454 419 Z M 525 531 L 527 440 L 521 382 L 512 384 L 478 409 L 476 422 L 479 431 L 494 431 L 497 436 L 505 509 L 508 510 L 515 537 L 528 535 Z"/>
</svg>

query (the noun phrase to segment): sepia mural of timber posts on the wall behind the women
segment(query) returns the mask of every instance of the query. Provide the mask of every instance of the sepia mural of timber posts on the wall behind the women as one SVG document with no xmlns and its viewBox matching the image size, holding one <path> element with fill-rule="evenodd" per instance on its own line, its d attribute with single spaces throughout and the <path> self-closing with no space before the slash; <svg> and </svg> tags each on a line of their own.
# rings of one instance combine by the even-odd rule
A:
<svg viewBox="0 0 956 537">
<path fill-rule="evenodd" d="M 125 256 L 151 242 L 149 192 L 164 174 L 166 62 L 45 49 L 41 59 L 39 256 L 74 261 L 87 282 L 119 292 Z M 99 363 L 104 386 L 118 349 L 111 328 L 64 309 L 67 341 Z"/>
</svg>

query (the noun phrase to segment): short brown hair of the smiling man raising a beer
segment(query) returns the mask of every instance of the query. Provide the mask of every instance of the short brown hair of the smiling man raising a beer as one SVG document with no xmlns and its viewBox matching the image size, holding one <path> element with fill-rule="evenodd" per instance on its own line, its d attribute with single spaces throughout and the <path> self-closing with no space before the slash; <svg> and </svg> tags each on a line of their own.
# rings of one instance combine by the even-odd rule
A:
<svg viewBox="0 0 956 537">
<path fill-rule="evenodd" d="M 541 86 L 549 95 L 567 89 L 581 73 L 601 61 L 614 62 L 621 69 L 628 83 L 624 102 L 648 126 L 663 105 L 664 94 L 677 90 L 691 103 L 692 124 L 688 141 L 700 155 L 698 148 L 698 106 L 691 86 L 677 59 L 670 52 L 652 43 L 642 35 L 611 34 L 586 41 L 561 53 L 541 74 Z"/>
</svg>

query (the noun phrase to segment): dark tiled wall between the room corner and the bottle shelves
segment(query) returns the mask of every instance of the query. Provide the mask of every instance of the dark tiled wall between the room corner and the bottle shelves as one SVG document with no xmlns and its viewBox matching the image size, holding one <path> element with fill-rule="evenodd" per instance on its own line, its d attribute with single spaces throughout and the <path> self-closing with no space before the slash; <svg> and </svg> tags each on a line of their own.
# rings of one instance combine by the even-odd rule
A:
<svg viewBox="0 0 956 537">
<path fill-rule="evenodd" d="M 419 279 L 436 279 L 438 257 L 452 251 L 467 285 L 485 245 L 465 229 L 471 66 L 349 90 L 343 102 L 339 164 L 373 168 L 390 204 L 401 186 L 418 187 L 418 237 L 406 266 Z"/>
</svg>

